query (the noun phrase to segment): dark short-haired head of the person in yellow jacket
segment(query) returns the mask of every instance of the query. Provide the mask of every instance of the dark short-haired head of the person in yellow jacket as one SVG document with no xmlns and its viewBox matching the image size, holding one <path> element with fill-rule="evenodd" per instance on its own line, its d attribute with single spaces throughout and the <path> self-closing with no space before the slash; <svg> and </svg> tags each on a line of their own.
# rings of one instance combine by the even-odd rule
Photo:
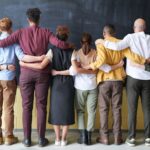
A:
<svg viewBox="0 0 150 150">
<path fill-rule="evenodd" d="M 103 36 L 104 38 L 108 37 L 108 36 L 114 36 L 116 33 L 116 29 L 115 26 L 112 24 L 107 24 L 104 26 L 103 28 Z"/>
</svg>

